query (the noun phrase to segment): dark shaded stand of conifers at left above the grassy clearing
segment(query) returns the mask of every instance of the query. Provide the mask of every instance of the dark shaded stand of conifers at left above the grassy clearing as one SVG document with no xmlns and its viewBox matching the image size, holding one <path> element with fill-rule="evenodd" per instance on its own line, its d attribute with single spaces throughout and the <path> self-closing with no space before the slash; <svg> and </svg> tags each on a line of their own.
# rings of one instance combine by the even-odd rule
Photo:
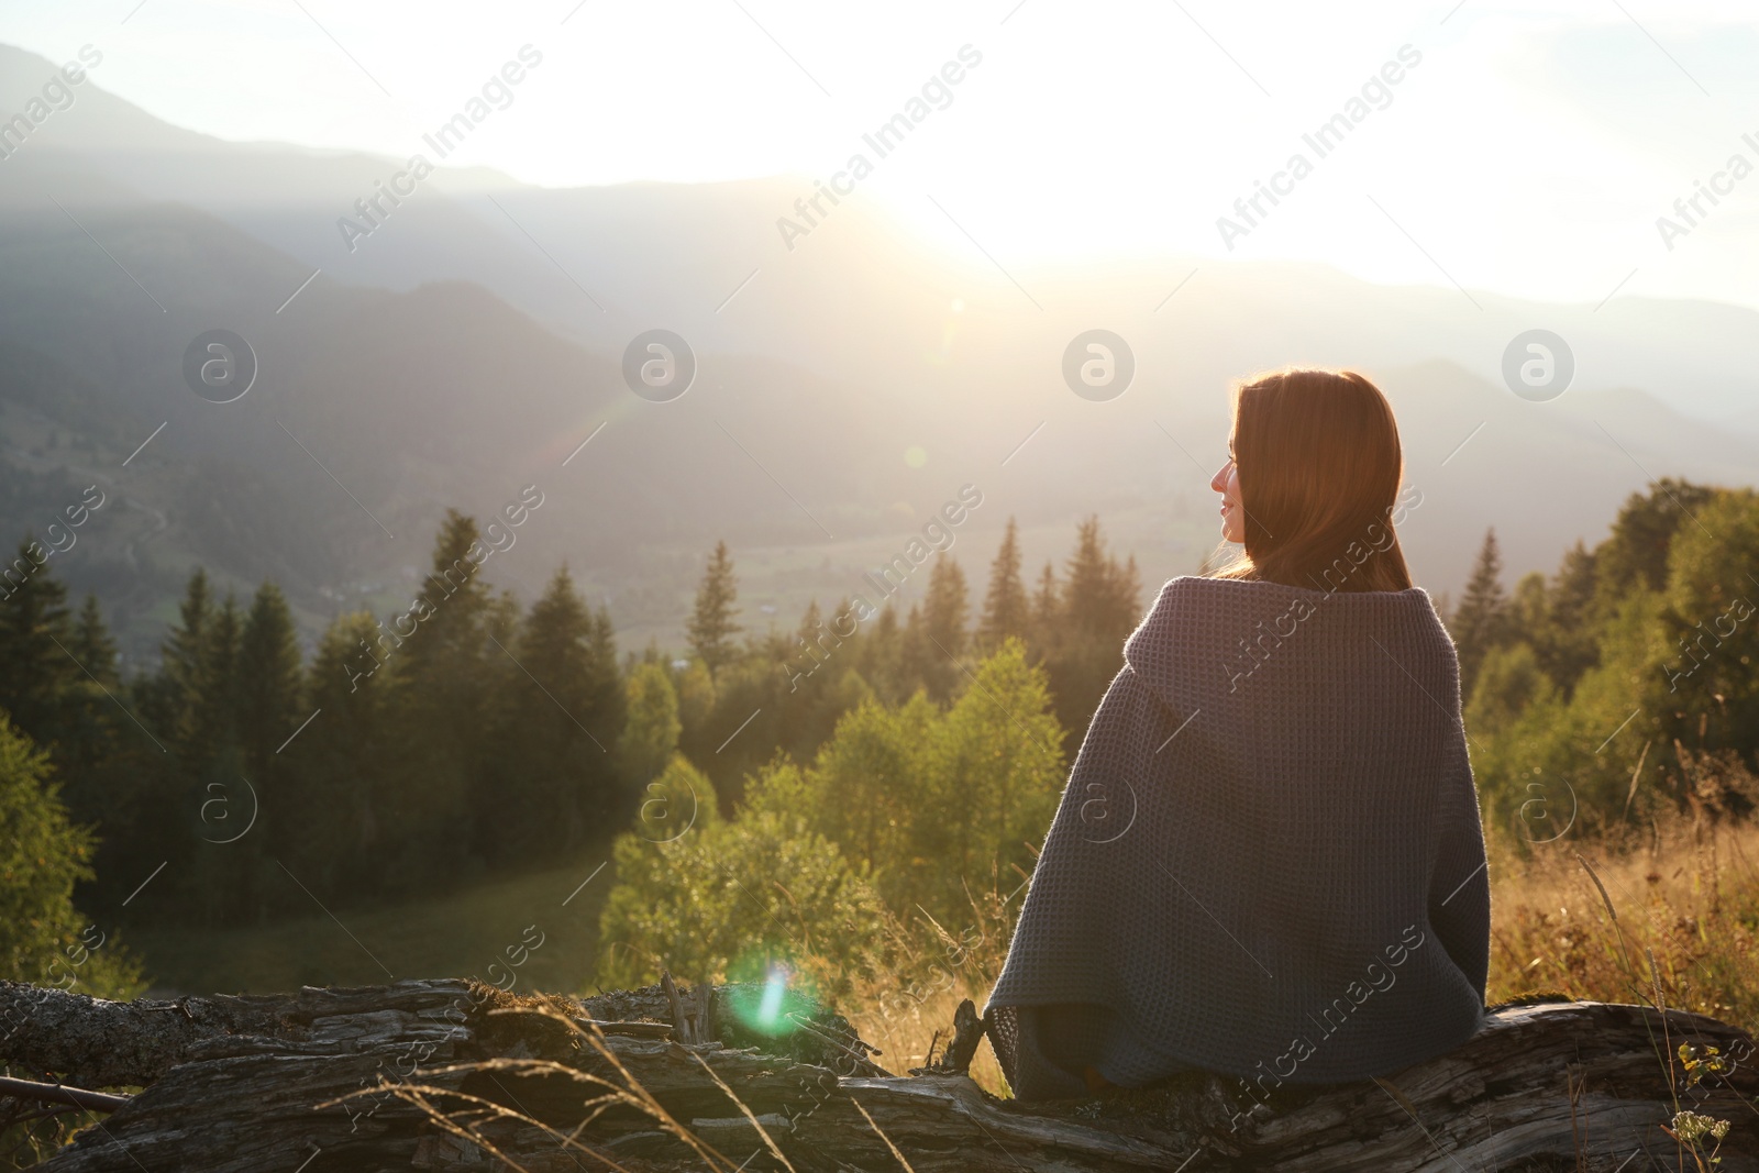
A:
<svg viewBox="0 0 1759 1173">
<path fill-rule="evenodd" d="M 91 911 L 262 922 L 609 841 L 651 777 L 610 753 L 626 709 L 610 619 L 566 568 L 522 612 L 478 575 L 482 549 L 449 512 L 410 605 L 338 616 L 310 663 L 274 584 L 241 607 L 197 568 L 158 668 L 132 681 L 95 600 L 70 617 L 51 565 L 14 575 L 0 693 L 74 821 L 100 830 L 79 878 Z"/>
</svg>

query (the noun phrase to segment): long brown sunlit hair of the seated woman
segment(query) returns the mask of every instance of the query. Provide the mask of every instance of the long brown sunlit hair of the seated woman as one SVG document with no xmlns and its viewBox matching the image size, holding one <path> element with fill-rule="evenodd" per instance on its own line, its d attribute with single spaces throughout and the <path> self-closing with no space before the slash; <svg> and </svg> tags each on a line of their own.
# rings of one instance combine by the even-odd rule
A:
<svg viewBox="0 0 1759 1173">
<path fill-rule="evenodd" d="M 1215 577 L 1317 591 L 1411 587 L 1393 533 L 1405 461 L 1379 387 L 1354 371 L 1284 369 L 1242 382 L 1230 450 L 1245 556 Z"/>
</svg>

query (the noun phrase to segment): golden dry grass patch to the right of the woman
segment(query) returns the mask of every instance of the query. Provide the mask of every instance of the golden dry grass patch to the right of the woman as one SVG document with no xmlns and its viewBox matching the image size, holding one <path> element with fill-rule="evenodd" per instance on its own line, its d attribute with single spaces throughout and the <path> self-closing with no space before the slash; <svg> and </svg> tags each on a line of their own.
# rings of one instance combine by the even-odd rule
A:
<svg viewBox="0 0 1759 1173">
<path fill-rule="evenodd" d="M 1490 1002 L 1653 1002 L 1652 983 L 1671 1008 L 1759 1031 L 1759 825 L 1662 816 L 1530 858 L 1492 844 Z"/>
</svg>

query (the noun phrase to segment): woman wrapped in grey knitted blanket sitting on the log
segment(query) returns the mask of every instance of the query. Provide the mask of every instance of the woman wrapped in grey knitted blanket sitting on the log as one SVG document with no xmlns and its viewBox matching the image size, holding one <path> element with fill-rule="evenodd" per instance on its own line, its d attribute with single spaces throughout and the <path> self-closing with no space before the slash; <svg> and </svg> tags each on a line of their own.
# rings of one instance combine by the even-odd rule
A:
<svg viewBox="0 0 1759 1173">
<path fill-rule="evenodd" d="M 987 1009 L 1020 1099 L 1177 1071 L 1390 1075 L 1483 1022 L 1490 888 L 1460 672 L 1353 371 L 1235 389 L 1223 536 L 1124 644 Z M 1421 494 L 1414 498 L 1421 501 Z"/>
</svg>

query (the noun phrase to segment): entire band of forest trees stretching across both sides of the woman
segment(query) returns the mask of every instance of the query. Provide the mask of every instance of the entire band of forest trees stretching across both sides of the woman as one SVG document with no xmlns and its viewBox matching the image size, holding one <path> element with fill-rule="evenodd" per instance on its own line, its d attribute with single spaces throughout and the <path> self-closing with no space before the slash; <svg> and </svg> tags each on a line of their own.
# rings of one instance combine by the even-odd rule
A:
<svg viewBox="0 0 1759 1173">
<path fill-rule="evenodd" d="M 0 686 L 72 821 L 100 832 L 99 879 L 74 881 L 100 918 L 160 865 L 130 923 L 260 923 L 579 858 L 631 816 L 668 839 L 688 811 L 691 837 L 741 849 L 758 820 L 804 827 L 894 922 L 952 925 L 1031 869 L 1068 739 L 1140 619 L 1135 563 L 1098 519 L 1075 538 L 1029 589 L 1010 521 L 974 624 L 943 554 L 918 607 L 844 598 L 765 631 L 734 623 L 721 543 L 695 656 L 626 670 L 566 568 L 521 608 L 477 575 L 456 512 L 410 605 L 338 616 L 310 659 L 273 584 L 239 605 L 195 570 L 158 668 L 120 679 L 97 603 L 72 614 L 42 565 L 0 598 Z M 1451 617 L 1493 834 L 1534 853 L 1671 811 L 1748 814 L 1717 779 L 1759 749 L 1754 492 L 1657 482 L 1555 575 L 1504 593 L 1497 570 L 1490 536 Z"/>
</svg>

